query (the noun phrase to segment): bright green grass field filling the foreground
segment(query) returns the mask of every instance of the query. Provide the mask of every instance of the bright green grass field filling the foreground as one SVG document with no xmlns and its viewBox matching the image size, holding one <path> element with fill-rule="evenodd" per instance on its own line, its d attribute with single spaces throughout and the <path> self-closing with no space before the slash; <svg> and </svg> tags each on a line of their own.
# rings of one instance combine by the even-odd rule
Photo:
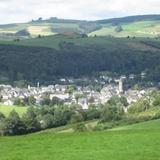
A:
<svg viewBox="0 0 160 160">
<path fill-rule="evenodd" d="M 0 137 L 0 159 L 158 160 L 159 124 L 160 120 L 156 120 L 117 131 L 61 134 L 42 132 Z"/>
</svg>

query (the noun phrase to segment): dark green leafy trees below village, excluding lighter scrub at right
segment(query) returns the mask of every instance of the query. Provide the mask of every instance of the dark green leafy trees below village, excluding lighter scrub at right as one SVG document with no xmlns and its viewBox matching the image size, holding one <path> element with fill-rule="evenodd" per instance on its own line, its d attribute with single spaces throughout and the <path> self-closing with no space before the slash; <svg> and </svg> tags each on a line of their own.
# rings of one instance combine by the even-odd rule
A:
<svg viewBox="0 0 160 160">
<path fill-rule="evenodd" d="M 83 109 L 77 104 L 70 106 L 50 104 L 41 107 L 29 107 L 22 117 L 14 110 L 8 117 L 0 113 L 0 135 L 28 134 L 94 119 L 101 119 L 102 122 L 120 120 L 124 115 L 123 107 L 125 104 L 124 99 L 117 97 L 105 105 L 90 105 L 89 109 Z"/>
</svg>

